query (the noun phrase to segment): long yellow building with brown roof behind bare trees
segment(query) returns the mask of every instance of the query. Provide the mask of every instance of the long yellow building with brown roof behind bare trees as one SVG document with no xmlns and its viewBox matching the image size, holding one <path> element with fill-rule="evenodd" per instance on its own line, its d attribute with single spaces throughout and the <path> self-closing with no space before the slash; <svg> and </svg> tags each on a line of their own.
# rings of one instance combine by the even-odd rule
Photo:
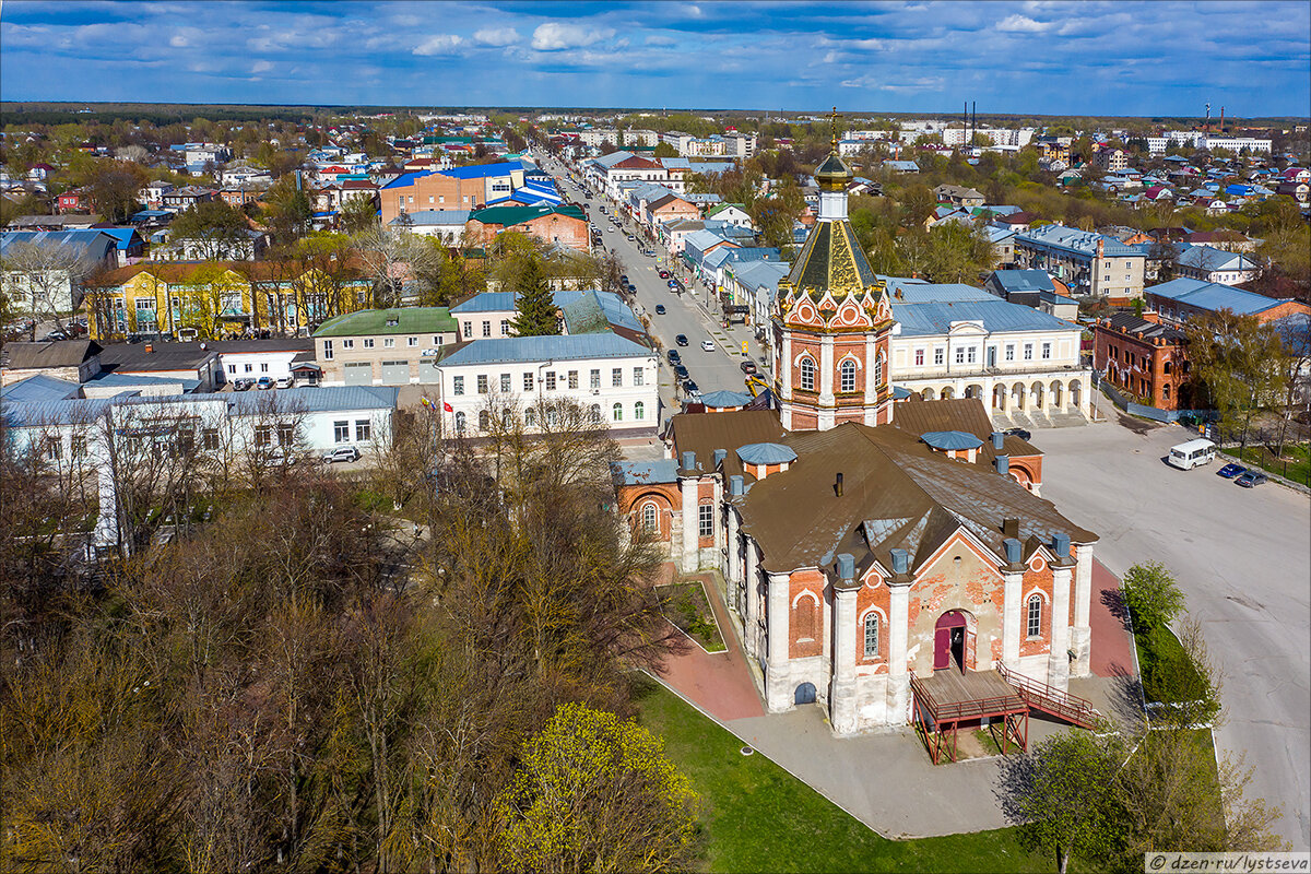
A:
<svg viewBox="0 0 1311 874">
<path fill-rule="evenodd" d="M 372 305 L 372 283 L 294 262 L 153 262 L 115 270 L 87 290 L 90 335 L 222 339 L 256 332 L 309 332 Z"/>
</svg>

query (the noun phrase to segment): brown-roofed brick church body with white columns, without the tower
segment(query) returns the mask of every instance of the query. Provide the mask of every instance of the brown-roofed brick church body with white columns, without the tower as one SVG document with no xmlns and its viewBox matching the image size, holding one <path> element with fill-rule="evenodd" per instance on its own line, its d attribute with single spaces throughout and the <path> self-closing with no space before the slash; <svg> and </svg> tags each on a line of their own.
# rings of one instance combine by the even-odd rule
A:
<svg viewBox="0 0 1311 874">
<path fill-rule="evenodd" d="M 724 574 L 768 712 L 818 702 L 839 735 L 906 725 L 912 676 L 1003 667 L 1061 696 L 1089 674 L 1097 536 L 1013 476 L 1032 446 L 953 430 L 988 427 L 977 402 L 903 408 L 791 434 L 763 410 L 674 417 L 674 459 L 620 490 L 683 573 Z"/>
</svg>

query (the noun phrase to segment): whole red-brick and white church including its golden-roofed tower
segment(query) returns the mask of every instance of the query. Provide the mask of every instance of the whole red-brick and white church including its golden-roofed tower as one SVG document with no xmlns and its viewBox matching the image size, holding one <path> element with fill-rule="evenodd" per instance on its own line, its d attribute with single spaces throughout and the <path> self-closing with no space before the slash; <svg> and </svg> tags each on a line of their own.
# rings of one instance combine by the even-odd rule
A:
<svg viewBox="0 0 1311 874">
<path fill-rule="evenodd" d="M 670 457 L 616 465 L 619 510 L 680 571 L 720 571 L 771 713 L 819 702 L 839 735 L 941 731 L 974 696 L 1011 719 L 1020 689 L 1050 704 L 1089 672 L 1097 536 L 1038 497 L 1041 453 L 981 401 L 893 402 L 888 295 L 844 174 L 835 148 L 780 283 L 779 410 L 673 417 Z"/>
</svg>

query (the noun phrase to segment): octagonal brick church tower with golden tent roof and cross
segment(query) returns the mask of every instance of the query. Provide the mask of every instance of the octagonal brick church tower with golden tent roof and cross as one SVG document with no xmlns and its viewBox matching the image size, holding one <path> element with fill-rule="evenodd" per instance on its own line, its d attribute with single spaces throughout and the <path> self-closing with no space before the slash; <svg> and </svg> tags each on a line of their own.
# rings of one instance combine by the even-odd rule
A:
<svg viewBox="0 0 1311 874">
<path fill-rule="evenodd" d="M 792 273 L 779 282 L 773 312 L 773 393 L 783 427 L 825 431 L 843 422 L 891 422 L 888 342 L 893 314 L 847 220 L 853 174 L 832 151 L 815 170 L 819 218 Z"/>
</svg>

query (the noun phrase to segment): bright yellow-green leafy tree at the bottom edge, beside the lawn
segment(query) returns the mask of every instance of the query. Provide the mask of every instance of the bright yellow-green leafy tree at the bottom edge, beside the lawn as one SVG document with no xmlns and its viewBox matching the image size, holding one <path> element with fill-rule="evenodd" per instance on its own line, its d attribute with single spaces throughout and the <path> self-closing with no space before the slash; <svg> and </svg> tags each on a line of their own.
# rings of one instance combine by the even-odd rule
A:
<svg viewBox="0 0 1311 874">
<path fill-rule="evenodd" d="M 564 704 L 498 799 L 511 870 L 669 871 L 694 858 L 696 794 L 632 719 Z"/>
</svg>

